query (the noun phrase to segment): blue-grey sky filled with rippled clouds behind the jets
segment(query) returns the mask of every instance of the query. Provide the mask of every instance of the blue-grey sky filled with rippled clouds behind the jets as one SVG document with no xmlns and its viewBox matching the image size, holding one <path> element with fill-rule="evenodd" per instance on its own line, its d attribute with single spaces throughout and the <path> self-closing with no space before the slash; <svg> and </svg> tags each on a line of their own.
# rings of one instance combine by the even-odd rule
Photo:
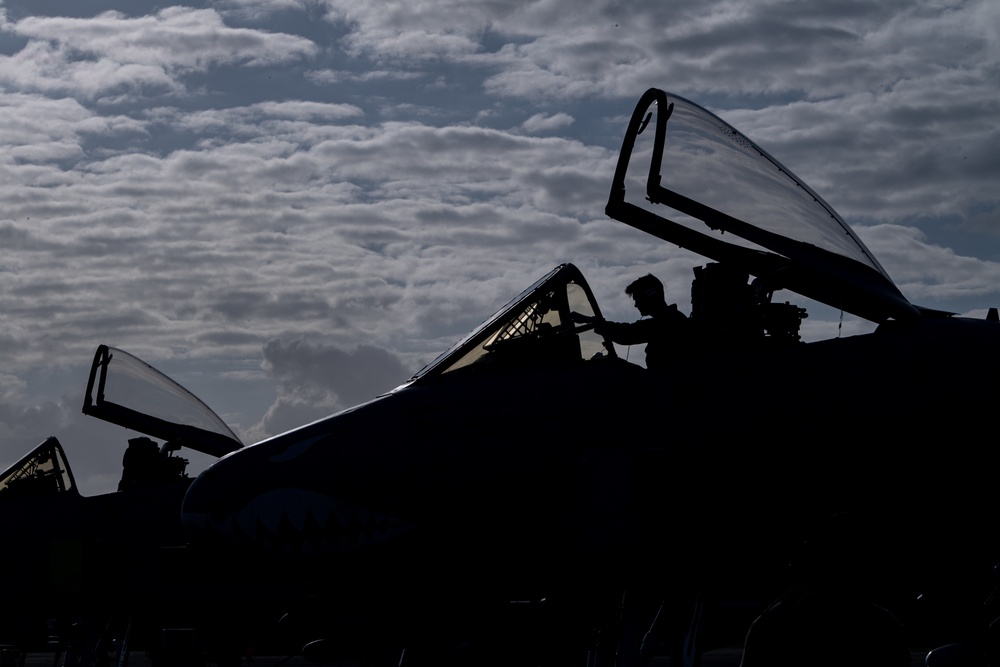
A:
<svg viewBox="0 0 1000 667">
<path fill-rule="evenodd" d="M 254 442 L 560 262 L 609 317 L 650 271 L 689 310 L 696 258 L 603 213 L 650 87 L 784 162 L 912 302 L 982 315 L 998 31 L 989 0 L 0 0 L 0 469 L 56 435 L 114 487 L 130 433 L 80 414 L 101 343 Z"/>
</svg>

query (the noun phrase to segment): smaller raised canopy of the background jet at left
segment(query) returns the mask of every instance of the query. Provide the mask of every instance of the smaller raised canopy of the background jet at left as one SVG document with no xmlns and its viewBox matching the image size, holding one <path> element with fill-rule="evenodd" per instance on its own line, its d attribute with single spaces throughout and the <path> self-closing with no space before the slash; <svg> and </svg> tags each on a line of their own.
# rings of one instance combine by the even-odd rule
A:
<svg viewBox="0 0 1000 667">
<path fill-rule="evenodd" d="M 211 456 L 243 446 L 201 399 L 141 359 L 97 348 L 84 414 Z"/>
</svg>

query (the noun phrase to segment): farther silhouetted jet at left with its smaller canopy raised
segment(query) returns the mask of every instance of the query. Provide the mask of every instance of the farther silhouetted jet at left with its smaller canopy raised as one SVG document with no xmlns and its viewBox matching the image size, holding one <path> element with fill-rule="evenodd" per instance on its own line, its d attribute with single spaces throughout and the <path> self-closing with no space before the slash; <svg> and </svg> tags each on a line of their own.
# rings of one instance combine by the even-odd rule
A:
<svg viewBox="0 0 1000 667">
<path fill-rule="evenodd" d="M 117 491 L 82 495 L 54 437 L 0 473 L 0 646 L 55 652 L 54 664 L 67 667 L 98 656 L 107 664 L 114 640 L 127 648 L 125 637 L 155 650 L 164 627 L 197 620 L 197 603 L 174 584 L 190 580 L 175 558 L 187 541 L 180 505 L 192 481 L 178 452 L 242 447 L 183 387 L 103 345 L 84 412 L 145 434 L 128 441 Z"/>
</svg>

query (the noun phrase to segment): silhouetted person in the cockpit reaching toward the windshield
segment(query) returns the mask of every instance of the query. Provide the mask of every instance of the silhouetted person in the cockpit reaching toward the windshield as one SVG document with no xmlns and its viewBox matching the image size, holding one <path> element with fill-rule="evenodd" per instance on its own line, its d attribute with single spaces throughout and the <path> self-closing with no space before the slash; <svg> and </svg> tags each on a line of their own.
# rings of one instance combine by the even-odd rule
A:
<svg viewBox="0 0 1000 667">
<path fill-rule="evenodd" d="M 684 342 L 688 319 L 677 310 L 677 304 L 667 305 L 663 283 L 652 274 L 638 278 L 625 293 L 632 297 L 644 319 L 635 322 L 601 322 L 595 330 L 619 345 L 646 344 L 646 368 L 665 368 L 670 349 Z"/>
</svg>

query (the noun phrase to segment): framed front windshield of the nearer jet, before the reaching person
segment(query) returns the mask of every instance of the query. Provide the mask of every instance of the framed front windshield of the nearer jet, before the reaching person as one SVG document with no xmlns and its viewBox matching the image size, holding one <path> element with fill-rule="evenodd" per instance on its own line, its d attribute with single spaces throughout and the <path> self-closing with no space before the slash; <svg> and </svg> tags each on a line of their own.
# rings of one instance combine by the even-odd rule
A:
<svg viewBox="0 0 1000 667">
<path fill-rule="evenodd" d="M 462 368 L 507 368 L 614 357 L 594 332 L 600 309 L 572 264 L 550 271 L 413 376 L 437 377 Z"/>
</svg>

